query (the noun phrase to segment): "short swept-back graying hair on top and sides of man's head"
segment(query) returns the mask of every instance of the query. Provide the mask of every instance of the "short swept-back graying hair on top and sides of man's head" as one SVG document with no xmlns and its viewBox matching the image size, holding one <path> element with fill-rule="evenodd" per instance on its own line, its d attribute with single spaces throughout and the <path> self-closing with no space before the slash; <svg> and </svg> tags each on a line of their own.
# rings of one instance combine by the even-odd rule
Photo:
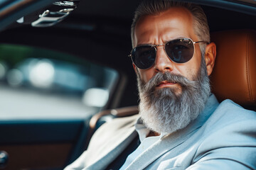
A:
<svg viewBox="0 0 256 170">
<path fill-rule="evenodd" d="M 200 6 L 195 4 L 179 2 L 179 1 L 172 1 L 172 0 L 143 0 L 141 4 L 139 4 L 137 10 L 134 14 L 134 19 L 132 22 L 131 28 L 131 37 L 132 37 L 132 47 L 134 47 L 134 29 L 139 21 L 139 18 L 142 16 L 149 16 L 149 15 L 158 15 L 161 12 L 167 11 L 169 8 L 172 7 L 184 7 L 187 8 L 188 11 L 192 13 L 193 16 L 193 28 L 195 34 L 198 36 L 199 40 L 210 42 L 210 31 L 208 27 L 208 21 L 206 18 L 206 14 L 204 13 L 203 9 Z M 200 49 L 203 52 L 205 49 L 206 44 L 201 43 Z"/>
</svg>

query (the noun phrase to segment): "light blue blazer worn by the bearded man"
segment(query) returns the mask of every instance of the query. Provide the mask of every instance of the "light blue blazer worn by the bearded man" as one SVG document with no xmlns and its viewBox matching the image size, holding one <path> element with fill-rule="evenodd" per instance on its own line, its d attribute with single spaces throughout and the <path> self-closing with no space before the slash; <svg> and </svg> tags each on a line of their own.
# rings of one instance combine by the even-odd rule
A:
<svg viewBox="0 0 256 170">
<path fill-rule="evenodd" d="M 139 115 L 117 118 L 95 132 L 88 149 L 65 168 L 105 169 L 136 137 Z M 159 140 L 127 169 L 256 169 L 256 113 L 211 95 L 186 128 Z"/>
</svg>

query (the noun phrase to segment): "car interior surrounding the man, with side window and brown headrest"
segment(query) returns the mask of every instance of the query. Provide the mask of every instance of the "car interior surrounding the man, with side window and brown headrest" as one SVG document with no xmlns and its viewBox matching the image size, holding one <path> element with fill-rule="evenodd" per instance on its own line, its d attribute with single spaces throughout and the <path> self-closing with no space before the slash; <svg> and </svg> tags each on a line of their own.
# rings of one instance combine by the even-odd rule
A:
<svg viewBox="0 0 256 170">
<path fill-rule="evenodd" d="M 255 111 L 256 2 L 189 2 L 206 12 L 217 47 L 213 94 Z M 100 125 L 139 113 L 128 57 L 138 4 L 0 1 L 0 169 L 63 169 Z"/>
</svg>

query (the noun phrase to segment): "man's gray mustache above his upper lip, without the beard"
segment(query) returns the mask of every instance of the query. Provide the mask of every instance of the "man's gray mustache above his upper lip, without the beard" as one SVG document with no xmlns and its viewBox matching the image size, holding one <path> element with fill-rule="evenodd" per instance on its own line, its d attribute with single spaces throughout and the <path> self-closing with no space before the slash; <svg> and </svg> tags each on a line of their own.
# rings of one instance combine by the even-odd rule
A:
<svg viewBox="0 0 256 170">
<path fill-rule="evenodd" d="M 146 84 L 144 83 L 144 88 L 148 90 L 155 89 L 156 86 L 161 84 L 162 81 L 168 81 L 170 83 L 179 84 L 182 88 L 193 88 L 193 86 L 199 85 L 197 81 L 189 80 L 180 74 L 171 74 L 170 72 L 159 72 Z"/>
</svg>

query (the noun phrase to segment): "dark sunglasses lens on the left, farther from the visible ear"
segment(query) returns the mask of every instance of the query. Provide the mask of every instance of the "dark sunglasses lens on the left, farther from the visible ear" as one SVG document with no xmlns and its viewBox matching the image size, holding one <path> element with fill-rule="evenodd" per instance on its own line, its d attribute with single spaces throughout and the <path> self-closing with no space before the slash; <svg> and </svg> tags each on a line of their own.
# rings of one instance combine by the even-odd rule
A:
<svg viewBox="0 0 256 170">
<path fill-rule="evenodd" d="M 156 59 L 156 50 L 151 45 L 135 47 L 132 50 L 132 62 L 139 69 L 149 69 Z"/>
</svg>

